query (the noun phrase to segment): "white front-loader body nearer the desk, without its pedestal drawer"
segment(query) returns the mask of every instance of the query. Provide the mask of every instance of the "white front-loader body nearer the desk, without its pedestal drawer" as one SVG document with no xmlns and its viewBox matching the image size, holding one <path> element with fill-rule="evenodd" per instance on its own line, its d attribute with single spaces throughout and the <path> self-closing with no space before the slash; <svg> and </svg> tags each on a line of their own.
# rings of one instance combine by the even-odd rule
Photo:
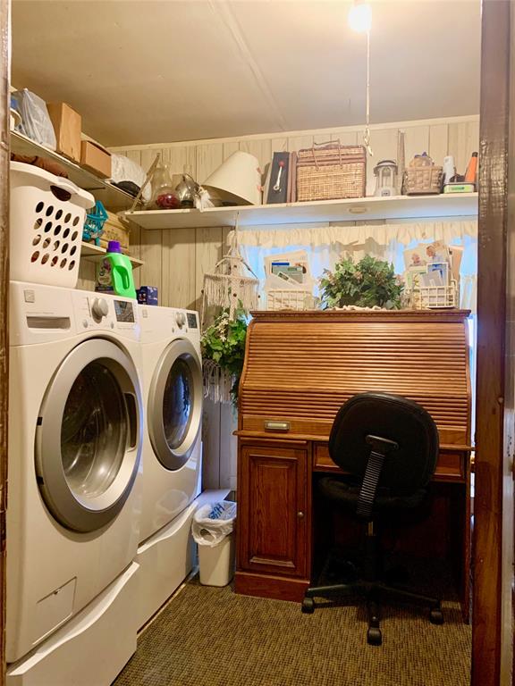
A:
<svg viewBox="0 0 515 686">
<path fill-rule="evenodd" d="M 139 305 L 144 406 L 139 540 L 180 515 L 200 488 L 202 363 L 198 314 Z"/>
</svg>

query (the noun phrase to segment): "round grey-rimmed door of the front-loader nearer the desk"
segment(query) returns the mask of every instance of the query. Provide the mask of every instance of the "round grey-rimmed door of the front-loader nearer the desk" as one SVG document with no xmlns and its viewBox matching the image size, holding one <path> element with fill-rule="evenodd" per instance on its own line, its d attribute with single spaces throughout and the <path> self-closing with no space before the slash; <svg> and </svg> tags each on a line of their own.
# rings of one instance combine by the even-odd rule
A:
<svg viewBox="0 0 515 686">
<path fill-rule="evenodd" d="M 148 395 L 148 435 L 166 469 L 186 464 L 202 419 L 202 365 L 187 339 L 176 339 L 156 365 Z"/>
</svg>

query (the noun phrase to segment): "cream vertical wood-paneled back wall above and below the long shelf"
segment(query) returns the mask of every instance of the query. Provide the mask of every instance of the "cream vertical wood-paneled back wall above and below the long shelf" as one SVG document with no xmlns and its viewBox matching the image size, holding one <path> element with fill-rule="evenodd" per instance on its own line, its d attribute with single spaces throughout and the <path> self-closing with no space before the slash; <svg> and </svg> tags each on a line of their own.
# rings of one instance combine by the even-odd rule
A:
<svg viewBox="0 0 515 686">
<path fill-rule="evenodd" d="M 443 163 L 444 155 L 454 155 L 458 171 L 464 173 L 471 153 L 479 145 L 477 116 L 376 125 L 372 129 L 371 138 L 374 156 L 367 160 L 367 195 L 374 193 L 376 163 L 383 159 L 397 159 L 399 130 L 405 132 L 407 163 L 413 155 L 424 151 L 437 163 Z M 291 131 L 112 150 L 120 155 L 127 155 L 146 171 L 156 154 L 161 153 L 172 174 L 181 174 L 187 165 L 192 176 L 203 182 L 236 150 L 256 155 L 261 169 L 265 171 L 276 151 L 299 150 L 301 147 L 312 146 L 313 143 L 338 139 L 342 145 L 356 145 L 362 141 L 362 129 L 347 127 L 336 130 Z M 140 230 L 134 227 L 131 230 L 131 253 L 145 261 L 144 266 L 134 272 L 137 287 L 157 286 L 160 305 L 199 310 L 204 272 L 212 270 L 222 257 L 228 231 L 229 229 L 222 227 L 180 230 Z M 82 264 L 79 288 L 93 289 L 94 278 L 94 266 Z M 235 428 L 236 420 L 230 406 L 220 408 L 207 403 L 203 431 L 207 487 L 235 488 L 236 445 L 232 438 L 232 430 Z"/>
</svg>

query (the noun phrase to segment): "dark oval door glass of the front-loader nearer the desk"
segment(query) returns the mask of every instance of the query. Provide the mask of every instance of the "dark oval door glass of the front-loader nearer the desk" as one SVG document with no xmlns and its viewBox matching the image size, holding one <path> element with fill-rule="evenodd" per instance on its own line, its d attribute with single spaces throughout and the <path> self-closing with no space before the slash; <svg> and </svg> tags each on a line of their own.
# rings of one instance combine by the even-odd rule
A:
<svg viewBox="0 0 515 686">
<path fill-rule="evenodd" d="M 179 448 L 190 429 L 195 389 L 187 359 L 177 358 L 168 372 L 163 397 L 163 426 L 171 450 Z"/>
</svg>

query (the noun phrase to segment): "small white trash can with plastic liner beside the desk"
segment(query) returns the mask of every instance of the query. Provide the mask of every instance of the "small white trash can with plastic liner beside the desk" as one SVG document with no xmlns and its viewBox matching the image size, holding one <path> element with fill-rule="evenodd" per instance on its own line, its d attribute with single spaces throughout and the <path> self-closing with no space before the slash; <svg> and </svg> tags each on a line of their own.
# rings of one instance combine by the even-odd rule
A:
<svg viewBox="0 0 515 686">
<path fill-rule="evenodd" d="M 200 583 L 226 586 L 234 576 L 234 522 L 236 503 L 224 500 L 199 507 L 191 533 L 198 543 Z"/>
</svg>

